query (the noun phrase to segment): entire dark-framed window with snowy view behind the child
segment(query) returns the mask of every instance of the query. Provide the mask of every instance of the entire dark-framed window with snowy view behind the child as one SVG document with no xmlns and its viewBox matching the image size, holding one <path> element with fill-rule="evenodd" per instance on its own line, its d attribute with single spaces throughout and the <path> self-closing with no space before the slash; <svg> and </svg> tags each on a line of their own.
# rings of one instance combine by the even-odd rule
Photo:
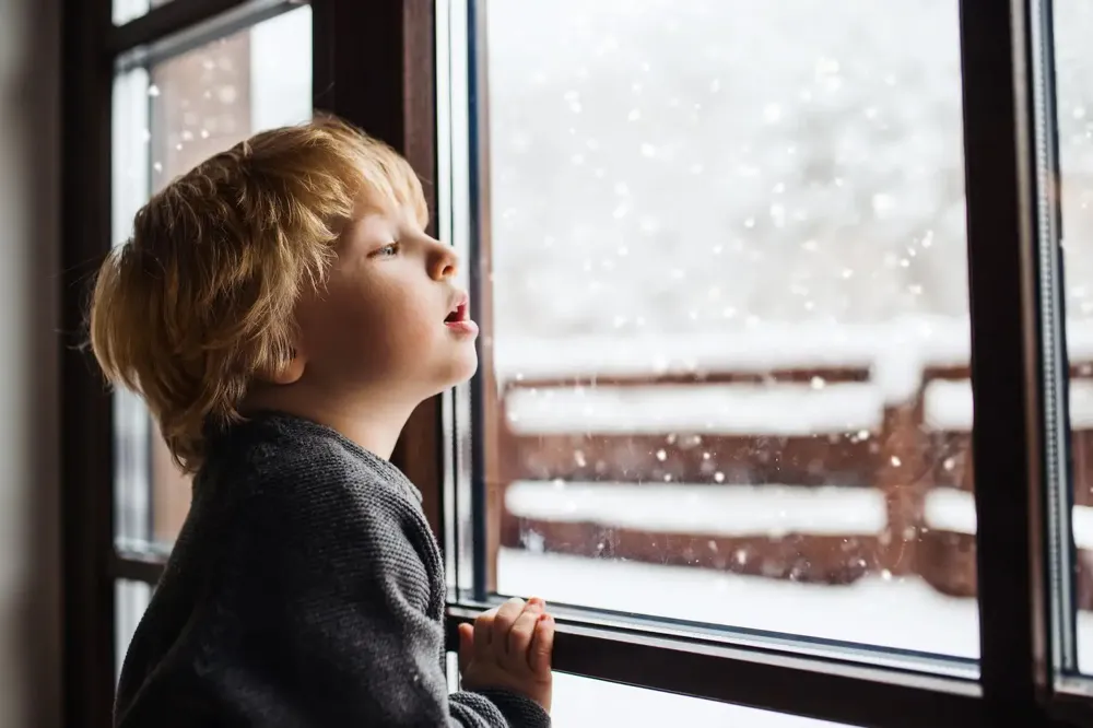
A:
<svg viewBox="0 0 1093 728">
<path fill-rule="evenodd" d="M 392 457 L 449 635 L 551 601 L 560 725 L 1057 728 L 1093 669 L 1093 15 L 1010 4 L 79 3 L 64 330 L 166 180 L 339 114 L 430 183 L 483 325 Z M 67 725 L 98 728 L 188 482 L 63 356 Z"/>
</svg>

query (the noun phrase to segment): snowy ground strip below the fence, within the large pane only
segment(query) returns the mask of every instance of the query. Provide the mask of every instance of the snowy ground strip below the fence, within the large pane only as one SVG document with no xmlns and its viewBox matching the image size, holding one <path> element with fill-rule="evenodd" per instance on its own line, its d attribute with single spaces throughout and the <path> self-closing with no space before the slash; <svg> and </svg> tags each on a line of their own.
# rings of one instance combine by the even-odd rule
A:
<svg viewBox="0 0 1093 728">
<path fill-rule="evenodd" d="M 498 591 L 708 624 L 977 657 L 975 601 L 920 579 L 799 584 L 689 566 L 503 550 Z"/>
</svg>

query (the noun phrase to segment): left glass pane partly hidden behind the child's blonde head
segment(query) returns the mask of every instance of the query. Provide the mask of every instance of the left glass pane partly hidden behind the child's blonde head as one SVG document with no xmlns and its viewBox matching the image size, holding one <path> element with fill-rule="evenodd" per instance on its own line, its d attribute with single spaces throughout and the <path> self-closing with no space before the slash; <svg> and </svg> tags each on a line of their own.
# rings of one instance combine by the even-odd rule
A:
<svg viewBox="0 0 1093 728">
<path fill-rule="evenodd" d="M 114 243 L 149 196 L 251 133 L 312 115 L 312 13 L 304 5 L 151 69 L 114 90 Z M 150 324 L 154 325 L 154 324 Z M 116 398 L 116 535 L 174 541 L 189 508 L 175 467 L 139 399 Z"/>
</svg>

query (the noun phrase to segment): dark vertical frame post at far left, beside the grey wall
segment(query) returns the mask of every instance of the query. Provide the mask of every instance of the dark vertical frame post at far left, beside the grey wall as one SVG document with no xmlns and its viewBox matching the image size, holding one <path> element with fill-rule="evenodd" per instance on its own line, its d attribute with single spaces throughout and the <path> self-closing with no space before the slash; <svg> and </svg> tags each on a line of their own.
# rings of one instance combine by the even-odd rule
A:
<svg viewBox="0 0 1093 728">
<path fill-rule="evenodd" d="M 106 728 L 114 703 L 113 403 L 89 361 L 89 282 L 110 248 L 109 0 L 68 2 L 61 30 L 61 535 L 66 726 Z"/>
</svg>

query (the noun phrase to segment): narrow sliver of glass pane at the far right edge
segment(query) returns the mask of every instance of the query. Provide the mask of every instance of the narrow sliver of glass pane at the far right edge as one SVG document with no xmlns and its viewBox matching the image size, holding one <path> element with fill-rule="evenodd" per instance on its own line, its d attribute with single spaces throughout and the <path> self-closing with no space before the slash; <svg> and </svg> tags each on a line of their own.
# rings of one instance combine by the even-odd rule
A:
<svg viewBox="0 0 1093 728">
<path fill-rule="evenodd" d="M 1072 528 L 1079 667 L 1093 670 L 1093 8 L 1058 2 L 1055 69 L 1067 354 L 1070 360 Z"/>
</svg>

